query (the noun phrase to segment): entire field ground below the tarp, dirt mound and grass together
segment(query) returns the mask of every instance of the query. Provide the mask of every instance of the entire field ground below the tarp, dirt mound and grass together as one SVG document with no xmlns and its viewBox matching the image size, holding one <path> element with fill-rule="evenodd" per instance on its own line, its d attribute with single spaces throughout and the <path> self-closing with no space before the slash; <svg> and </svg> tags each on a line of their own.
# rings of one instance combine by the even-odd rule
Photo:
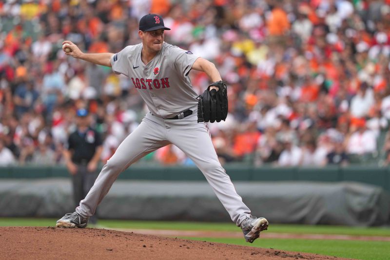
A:
<svg viewBox="0 0 390 260">
<path fill-rule="evenodd" d="M 87 229 L 55 219 L 0 218 L 0 259 L 363 259 L 390 256 L 389 227 L 272 224 L 246 243 L 231 223 L 100 220 Z M 77 249 L 77 250 L 74 250 Z"/>
</svg>

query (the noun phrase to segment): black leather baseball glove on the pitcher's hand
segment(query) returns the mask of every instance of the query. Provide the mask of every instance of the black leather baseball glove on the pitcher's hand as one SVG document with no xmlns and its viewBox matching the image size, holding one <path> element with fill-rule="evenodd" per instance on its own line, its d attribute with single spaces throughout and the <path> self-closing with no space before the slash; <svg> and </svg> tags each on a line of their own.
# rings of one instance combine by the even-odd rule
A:
<svg viewBox="0 0 390 260">
<path fill-rule="evenodd" d="M 211 86 L 218 87 L 218 91 Z M 198 100 L 198 122 L 214 123 L 225 120 L 228 115 L 228 93 L 224 81 L 216 81 L 208 86 Z"/>
</svg>

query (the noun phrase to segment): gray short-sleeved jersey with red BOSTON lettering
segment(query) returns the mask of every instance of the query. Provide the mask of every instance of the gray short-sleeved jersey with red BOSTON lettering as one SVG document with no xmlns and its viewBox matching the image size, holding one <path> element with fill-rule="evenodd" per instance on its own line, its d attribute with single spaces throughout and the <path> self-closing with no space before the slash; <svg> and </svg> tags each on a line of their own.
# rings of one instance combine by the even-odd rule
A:
<svg viewBox="0 0 390 260">
<path fill-rule="evenodd" d="M 197 106 L 197 94 L 188 74 L 198 56 L 164 42 L 148 64 L 141 60 L 142 43 L 127 46 L 111 58 L 113 71 L 131 79 L 149 111 L 171 118 Z"/>
</svg>

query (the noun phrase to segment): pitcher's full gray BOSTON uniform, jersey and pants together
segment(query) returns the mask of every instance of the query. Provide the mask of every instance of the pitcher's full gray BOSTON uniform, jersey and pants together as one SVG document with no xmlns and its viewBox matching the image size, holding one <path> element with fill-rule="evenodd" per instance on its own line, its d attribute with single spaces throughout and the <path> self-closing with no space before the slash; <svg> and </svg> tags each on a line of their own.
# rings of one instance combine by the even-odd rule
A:
<svg viewBox="0 0 390 260">
<path fill-rule="evenodd" d="M 142 44 L 127 46 L 113 55 L 111 64 L 114 72 L 132 80 L 151 113 L 119 145 L 76 212 L 84 217 L 92 216 L 123 170 L 148 153 L 172 143 L 195 162 L 239 226 L 251 216 L 251 211 L 219 163 L 206 123 L 197 123 L 197 95 L 188 73 L 198 57 L 164 43 L 156 57 L 145 65 L 141 51 Z M 194 113 L 179 120 L 169 119 L 187 109 Z"/>
</svg>

